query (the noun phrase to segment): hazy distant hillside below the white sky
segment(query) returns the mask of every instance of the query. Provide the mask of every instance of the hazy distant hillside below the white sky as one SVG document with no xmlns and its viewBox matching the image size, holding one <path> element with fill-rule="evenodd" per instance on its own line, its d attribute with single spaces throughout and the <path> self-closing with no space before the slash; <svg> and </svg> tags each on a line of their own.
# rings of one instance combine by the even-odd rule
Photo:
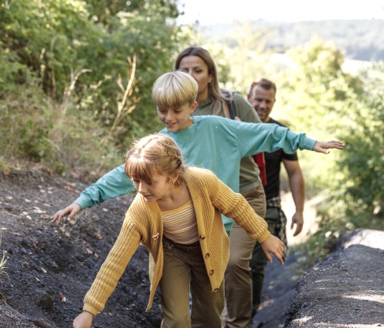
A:
<svg viewBox="0 0 384 328">
<path fill-rule="evenodd" d="M 307 21 L 298 23 L 247 22 L 254 34 L 263 35 L 267 49 L 283 53 L 287 49 L 303 45 L 315 35 L 335 42 L 344 50 L 346 58 L 354 60 L 384 60 L 384 20 Z M 202 34 L 237 45 L 241 24 L 212 25 L 201 27 Z"/>
</svg>

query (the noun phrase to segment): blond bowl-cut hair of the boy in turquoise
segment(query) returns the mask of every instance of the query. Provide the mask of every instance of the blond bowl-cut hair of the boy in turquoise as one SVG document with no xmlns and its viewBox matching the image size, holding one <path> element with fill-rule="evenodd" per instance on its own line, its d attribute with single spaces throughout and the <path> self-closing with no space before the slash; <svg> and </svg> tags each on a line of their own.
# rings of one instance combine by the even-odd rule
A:
<svg viewBox="0 0 384 328">
<path fill-rule="evenodd" d="M 165 73 L 156 79 L 152 99 L 160 108 L 180 108 L 196 101 L 197 88 L 197 82 L 187 73 Z"/>
</svg>

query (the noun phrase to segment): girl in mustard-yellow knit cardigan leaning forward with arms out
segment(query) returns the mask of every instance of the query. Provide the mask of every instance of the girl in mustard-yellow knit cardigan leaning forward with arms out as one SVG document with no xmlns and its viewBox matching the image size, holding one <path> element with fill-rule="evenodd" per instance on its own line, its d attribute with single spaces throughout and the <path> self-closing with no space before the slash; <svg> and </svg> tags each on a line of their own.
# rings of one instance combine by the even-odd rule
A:
<svg viewBox="0 0 384 328">
<path fill-rule="evenodd" d="M 233 218 L 283 264 L 284 246 L 248 202 L 203 168 L 187 167 L 172 138 L 151 134 L 132 144 L 125 173 L 138 191 L 123 227 L 91 289 L 74 328 L 91 328 L 140 244 L 149 251 L 147 310 L 160 286 L 161 327 L 221 327 L 229 238 L 221 214 Z M 189 314 L 189 289 L 192 310 Z"/>
</svg>

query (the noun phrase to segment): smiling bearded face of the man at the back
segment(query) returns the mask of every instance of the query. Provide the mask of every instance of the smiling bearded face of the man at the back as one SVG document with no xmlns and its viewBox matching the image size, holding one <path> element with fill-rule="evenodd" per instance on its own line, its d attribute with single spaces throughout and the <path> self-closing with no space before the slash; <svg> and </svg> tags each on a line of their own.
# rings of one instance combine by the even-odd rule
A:
<svg viewBox="0 0 384 328">
<path fill-rule="evenodd" d="M 248 100 L 256 110 L 261 121 L 268 122 L 269 114 L 272 112 L 275 103 L 275 90 L 273 88 L 265 90 L 261 86 L 255 86 Z"/>
</svg>

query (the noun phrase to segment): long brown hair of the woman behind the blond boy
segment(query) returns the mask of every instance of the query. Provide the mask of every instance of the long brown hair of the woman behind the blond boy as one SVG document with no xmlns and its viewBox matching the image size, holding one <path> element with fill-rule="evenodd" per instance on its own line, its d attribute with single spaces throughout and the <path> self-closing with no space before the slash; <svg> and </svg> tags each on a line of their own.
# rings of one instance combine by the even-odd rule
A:
<svg viewBox="0 0 384 328">
<path fill-rule="evenodd" d="M 202 58 L 208 67 L 208 74 L 212 75 L 212 81 L 208 86 L 208 97 L 213 102 L 213 114 L 218 115 L 221 111 L 221 108 L 224 108 L 226 103 L 224 100 L 224 95 L 222 94 L 219 87 L 219 81 L 217 80 L 217 69 L 215 62 L 213 61 L 213 58 L 208 50 L 201 47 L 188 47 L 179 53 L 175 62 L 176 70 L 180 69 L 180 62 L 182 58 L 189 55 L 196 55 L 197 57 Z"/>
</svg>

